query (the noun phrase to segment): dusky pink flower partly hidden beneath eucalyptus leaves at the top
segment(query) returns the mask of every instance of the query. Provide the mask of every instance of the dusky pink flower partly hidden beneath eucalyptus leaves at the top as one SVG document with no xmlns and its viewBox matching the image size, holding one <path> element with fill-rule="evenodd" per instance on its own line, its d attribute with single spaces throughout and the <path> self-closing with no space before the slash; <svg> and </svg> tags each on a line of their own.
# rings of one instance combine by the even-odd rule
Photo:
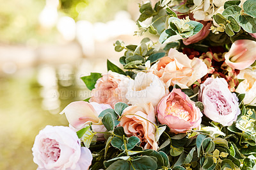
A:
<svg viewBox="0 0 256 170">
<path fill-rule="evenodd" d="M 204 25 L 204 27 L 196 34 L 193 35 L 189 38 L 187 38 L 186 40 L 183 40 L 183 43 L 185 45 L 189 45 L 191 43 L 196 43 L 199 42 L 200 40 L 203 40 L 204 38 L 206 38 L 206 36 L 209 35 L 210 33 L 210 27 L 212 26 L 212 22 L 205 22 L 205 21 L 200 21 L 201 24 Z"/>
</svg>

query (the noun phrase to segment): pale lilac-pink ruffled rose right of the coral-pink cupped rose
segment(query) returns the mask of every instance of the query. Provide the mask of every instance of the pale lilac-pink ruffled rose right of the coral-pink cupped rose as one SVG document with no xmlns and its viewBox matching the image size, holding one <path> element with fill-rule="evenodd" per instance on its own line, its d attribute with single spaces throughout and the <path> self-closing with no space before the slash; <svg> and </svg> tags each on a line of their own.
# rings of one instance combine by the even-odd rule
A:
<svg viewBox="0 0 256 170">
<path fill-rule="evenodd" d="M 232 125 L 240 114 L 238 98 L 228 89 L 223 78 L 207 78 L 201 84 L 199 99 L 204 104 L 204 114 L 223 126 Z"/>
</svg>

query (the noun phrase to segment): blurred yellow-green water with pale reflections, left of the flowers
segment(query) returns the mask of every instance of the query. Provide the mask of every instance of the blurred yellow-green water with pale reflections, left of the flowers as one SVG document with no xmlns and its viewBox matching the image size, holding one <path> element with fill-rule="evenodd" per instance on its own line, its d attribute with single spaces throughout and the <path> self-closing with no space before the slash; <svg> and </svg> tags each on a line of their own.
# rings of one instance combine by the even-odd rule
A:
<svg viewBox="0 0 256 170">
<path fill-rule="evenodd" d="M 41 65 L 0 77 L 0 169 L 36 169 L 31 148 L 46 125 L 67 126 L 66 105 L 90 95 L 70 65 Z"/>
</svg>

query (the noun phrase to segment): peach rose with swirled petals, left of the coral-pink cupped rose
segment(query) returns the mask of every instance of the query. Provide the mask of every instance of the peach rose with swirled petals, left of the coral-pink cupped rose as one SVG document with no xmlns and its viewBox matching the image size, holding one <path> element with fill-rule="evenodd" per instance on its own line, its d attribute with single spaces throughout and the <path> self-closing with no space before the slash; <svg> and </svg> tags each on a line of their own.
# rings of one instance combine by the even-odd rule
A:
<svg viewBox="0 0 256 170">
<path fill-rule="evenodd" d="M 156 128 L 152 125 L 152 123 L 156 125 L 153 105 L 151 103 L 143 107 L 131 105 L 124 109 L 123 115 L 125 116 L 121 118 L 120 126 L 124 127 L 125 134 L 129 137 L 132 135 L 138 137 L 144 149 L 157 150 Z"/>
</svg>

